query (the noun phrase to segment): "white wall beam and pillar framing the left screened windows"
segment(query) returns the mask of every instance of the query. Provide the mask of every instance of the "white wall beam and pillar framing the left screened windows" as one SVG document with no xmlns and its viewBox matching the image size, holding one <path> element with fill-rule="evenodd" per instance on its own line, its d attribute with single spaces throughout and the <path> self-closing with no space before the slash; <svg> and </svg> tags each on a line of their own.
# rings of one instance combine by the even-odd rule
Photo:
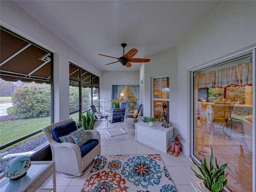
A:
<svg viewBox="0 0 256 192">
<path fill-rule="evenodd" d="M 0 1 L 1 26 L 54 54 L 54 122 L 69 118 L 69 62 L 96 76 L 101 71 L 12 1 Z"/>
</svg>

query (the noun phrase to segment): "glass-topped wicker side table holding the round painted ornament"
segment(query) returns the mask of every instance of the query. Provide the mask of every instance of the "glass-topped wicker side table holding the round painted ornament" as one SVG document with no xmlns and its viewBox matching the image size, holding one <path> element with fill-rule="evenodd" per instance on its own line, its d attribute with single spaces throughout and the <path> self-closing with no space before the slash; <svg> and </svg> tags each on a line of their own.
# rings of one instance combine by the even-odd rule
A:
<svg viewBox="0 0 256 192">
<path fill-rule="evenodd" d="M 52 175 L 52 188 L 38 189 Z M 19 180 L 10 181 L 4 175 L 0 179 L 1 192 L 56 192 L 55 162 L 32 161 L 27 174 Z"/>
</svg>

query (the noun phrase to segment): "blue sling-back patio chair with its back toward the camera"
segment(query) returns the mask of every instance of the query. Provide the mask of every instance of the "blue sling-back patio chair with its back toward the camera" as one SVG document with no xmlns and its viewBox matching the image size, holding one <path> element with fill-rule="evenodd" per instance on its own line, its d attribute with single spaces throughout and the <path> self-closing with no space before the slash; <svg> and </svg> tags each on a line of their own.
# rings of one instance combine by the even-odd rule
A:
<svg viewBox="0 0 256 192">
<path fill-rule="evenodd" d="M 126 109 L 113 109 L 111 117 L 108 117 L 107 132 L 108 132 L 108 134 L 110 134 L 111 137 L 126 134 L 126 132 L 124 131 L 124 126 L 123 126 L 123 124 L 124 124 L 124 117 L 125 117 L 125 110 Z M 120 134 L 112 134 L 112 133 L 110 133 L 109 126 L 110 125 L 115 125 L 115 124 L 119 124 L 120 125 L 120 130 L 121 130 L 122 133 L 120 133 Z M 116 129 L 114 129 L 114 131 L 115 130 Z"/>
</svg>

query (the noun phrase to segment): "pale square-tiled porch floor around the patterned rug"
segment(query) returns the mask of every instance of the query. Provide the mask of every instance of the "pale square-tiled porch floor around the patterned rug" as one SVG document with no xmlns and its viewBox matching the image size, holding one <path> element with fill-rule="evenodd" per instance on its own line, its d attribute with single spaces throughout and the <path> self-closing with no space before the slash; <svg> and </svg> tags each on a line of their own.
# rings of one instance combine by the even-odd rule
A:
<svg viewBox="0 0 256 192">
<path fill-rule="evenodd" d="M 97 128 L 97 127 L 96 127 Z M 98 126 L 100 128 L 100 126 Z M 110 137 L 105 129 L 97 129 L 101 135 L 101 154 L 160 154 L 178 192 L 195 192 L 190 182 L 201 181 L 190 169 L 192 162 L 181 152 L 178 157 L 169 153 L 165 154 L 150 146 L 135 141 L 135 129 L 124 128 L 127 134 Z M 110 126 L 110 131 L 115 134 L 120 131 L 119 126 Z M 195 167 L 194 167 L 195 168 Z M 56 172 L 57 192 L 80 192 L 87 174 L 76 178 L 64 178 Z M 52 186 L 52 178 L 48 178 L 42 187 Z"/>
</svg>

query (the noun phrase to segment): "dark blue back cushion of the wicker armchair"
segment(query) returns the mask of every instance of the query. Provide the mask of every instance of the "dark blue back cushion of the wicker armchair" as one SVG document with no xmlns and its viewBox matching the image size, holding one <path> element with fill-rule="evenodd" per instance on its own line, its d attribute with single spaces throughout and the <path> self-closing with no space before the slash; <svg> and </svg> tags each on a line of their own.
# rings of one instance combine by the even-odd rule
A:
<svg viewBox="0 0 256 192">
<path fill-rule="evenodd" d="M 51 129 L 51 131 L 52 131 L 52 138 L 54 140 L 56 140 L 56 142 L 60 143 L 61 141 L 60 141 L 59 137 L 64 136 L 64 135 L 68 135 L 71 132 L 74 132 L 76 130 L 77 130 L 76 122 L 75 121 L 68 122 L 68 123 L 66 123 L 64 125 L 53 127 Z"/>
</svg>

